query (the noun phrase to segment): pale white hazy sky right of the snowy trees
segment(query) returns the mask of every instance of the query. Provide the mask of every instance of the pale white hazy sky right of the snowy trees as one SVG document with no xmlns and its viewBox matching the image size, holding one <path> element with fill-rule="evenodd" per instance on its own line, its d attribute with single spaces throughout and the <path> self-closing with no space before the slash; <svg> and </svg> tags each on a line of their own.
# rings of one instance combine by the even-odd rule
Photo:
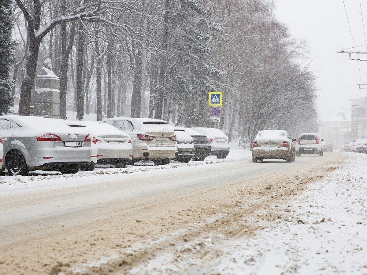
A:
<svg viewBox="0 0 367 275">
<path fill-rule="evenodd" d="M 276 0 L 277 19 L 288 26 L 294 38 L 304 38 L 309 43 L 308 62 L 317 77 L 320 120 L 337 120 L 341 118 L 336 116 L 339 112 L 345 112 L 350 120 L 350 111 L 341 107 L 351 109 L 349 99 L 367 96 L 367 89 L 359 89 L 357 85 L 367 83 L 367 61 L 349 60 L 348 54 L 336 53 L 354 45 L 363 45 L 357 51 L 367 51 L 364 35 L 367 34 L 367 0 L 344 0 L 344 3 L 343 0 Z M 367 54 L 360 54 L 359 58 L 367 59 Z"/>
</svg>

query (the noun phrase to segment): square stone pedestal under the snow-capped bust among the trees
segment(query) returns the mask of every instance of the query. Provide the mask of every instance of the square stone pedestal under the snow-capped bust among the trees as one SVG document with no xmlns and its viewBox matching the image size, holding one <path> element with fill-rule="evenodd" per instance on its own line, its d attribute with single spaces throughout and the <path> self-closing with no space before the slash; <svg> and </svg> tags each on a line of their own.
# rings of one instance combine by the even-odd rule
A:
<svg viewBox="0 0 367 275">
<path fill-rule="evenodd" d="M 54 74 L 36 77 L 34 115 L 60 118 L 60 80 Z"/>
</svg>

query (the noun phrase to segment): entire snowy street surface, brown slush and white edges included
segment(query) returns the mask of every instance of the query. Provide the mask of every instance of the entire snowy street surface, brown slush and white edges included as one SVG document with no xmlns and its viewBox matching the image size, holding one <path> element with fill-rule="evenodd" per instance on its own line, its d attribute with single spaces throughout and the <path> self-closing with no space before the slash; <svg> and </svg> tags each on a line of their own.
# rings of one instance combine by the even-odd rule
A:
<svg viewBox="0 0 367 275">
<path fill-rule="evenodd" d="M 217 163 L 219 162 L 219 163 Z M 0 274 L 365 274 L 367 156 L 0 177 Z"/>
</svg>

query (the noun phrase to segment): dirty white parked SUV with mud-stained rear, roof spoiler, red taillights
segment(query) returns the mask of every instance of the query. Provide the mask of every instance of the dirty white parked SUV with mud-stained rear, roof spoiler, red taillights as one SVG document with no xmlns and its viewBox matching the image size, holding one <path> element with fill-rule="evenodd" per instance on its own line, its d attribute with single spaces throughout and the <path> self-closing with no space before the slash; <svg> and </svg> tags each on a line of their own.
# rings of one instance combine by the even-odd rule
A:
<svg viewBox="0 0 367 275">
<path fill-rule="evenodd" d="M 177 138 L 167 121 L 153 118 L 115 117 L 103 120 L 127 133 L 132 141 L 132 164 L 141 160 L 169 164 L 178 156 Z"/>
</svg>

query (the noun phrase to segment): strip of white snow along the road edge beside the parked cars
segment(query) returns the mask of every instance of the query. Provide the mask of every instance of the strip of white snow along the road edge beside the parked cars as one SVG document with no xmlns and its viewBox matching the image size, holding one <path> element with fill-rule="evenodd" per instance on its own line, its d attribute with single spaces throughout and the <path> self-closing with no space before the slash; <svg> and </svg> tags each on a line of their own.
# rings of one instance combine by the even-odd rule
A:
<svg viewBox="0 0 367 275">
<path fill-rule="evenodd" d="M 161 169 L 183 168 L 187 166 L 207 165 L 219 162 L 232 162 L 240 159 L 249 159 L 250 150 L 239 148 L 238 144 L 230 144 L 230 151 L 225 159 L 216 156 L 206 157 L 204 161 L 190 161 L 181 163 L 171 161 L 168 165 L 154 165 L 152 161 L 138 162 L 135 165 L 127 165 L 126 168 L 106 168 L 108 165 L 96 165 L 91 172 L 78 172 L 77 174 L 64 174 L 60 172 L 44 172 L 36 170 L 30 172 L 29 176 L 0 176 L 0 196 L 28 191 L 41 191 L 52 188 L 65 188 L 91 184 L 103 180 L 121 180 L 121 176 L 131 179 L 138 176 L 139 172 L 147 172 Z M 88 180 L 86 180 L 86 178 Z"/>
</svg>

